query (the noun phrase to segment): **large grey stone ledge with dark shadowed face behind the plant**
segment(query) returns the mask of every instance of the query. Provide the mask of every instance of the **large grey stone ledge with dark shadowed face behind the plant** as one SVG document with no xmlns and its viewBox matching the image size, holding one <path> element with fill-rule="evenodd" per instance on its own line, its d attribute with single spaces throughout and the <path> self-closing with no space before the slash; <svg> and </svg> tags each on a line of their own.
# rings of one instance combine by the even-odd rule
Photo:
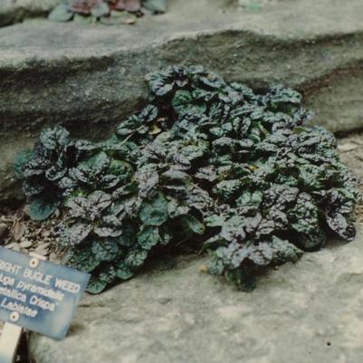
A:
<svg viewBox="0 0 363 363">
<path fill-rule="evenodd" d="M 0 200 L 18 197 L 10 163 L 40 129 L 60 122 L 74 135 L 105 136 L 145 102 L 144 75 L 170 63 L 204 64 L 258 88 L 284 82 L 304 93 L 316 122 L 361 128 L 362 1 L 266 4 L 246 13 L 229 0 L 171 0 L 167 14 L 135 26 L 0 29 Z"/>
</svg>

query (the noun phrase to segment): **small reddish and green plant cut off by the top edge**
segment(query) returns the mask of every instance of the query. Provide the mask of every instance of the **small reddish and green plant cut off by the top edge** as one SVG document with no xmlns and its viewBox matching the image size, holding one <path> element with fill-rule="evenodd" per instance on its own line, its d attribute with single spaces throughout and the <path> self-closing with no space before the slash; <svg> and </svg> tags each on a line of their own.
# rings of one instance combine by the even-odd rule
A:
<svg viewBox="0 0 363 363">
<path fill-rule="evenodd" d="M 49 19 L 57 22 L 72 19 L 89 23 L 100 21 L 107 25 L 133 24 L 144 9 L 154 14 L 165 13 L 167 0 L 63 0 L 49 14 Z"/>
</svg>

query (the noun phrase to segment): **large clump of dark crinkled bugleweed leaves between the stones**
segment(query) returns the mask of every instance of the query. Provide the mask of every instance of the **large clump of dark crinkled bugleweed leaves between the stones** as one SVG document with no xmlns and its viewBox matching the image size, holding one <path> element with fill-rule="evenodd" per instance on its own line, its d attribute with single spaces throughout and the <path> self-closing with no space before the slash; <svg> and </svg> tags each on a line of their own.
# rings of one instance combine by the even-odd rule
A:
<svg viewBox="0 0 363 363">
<path fill-rule="evenodd" d="M 251 289 L 257 273 L 319 250 L 330 234 L 354 238 L 356 180 L 333 135 L 306 125 L 300 93 L 255 93 L 199 66 L 147 80 L 148 106 L 110 139 L 46 129 L 15 162 L 31 217 L 64 211 L 64 262 L 91 272 L 89 291 L 179 244 Z"/>
</svg>

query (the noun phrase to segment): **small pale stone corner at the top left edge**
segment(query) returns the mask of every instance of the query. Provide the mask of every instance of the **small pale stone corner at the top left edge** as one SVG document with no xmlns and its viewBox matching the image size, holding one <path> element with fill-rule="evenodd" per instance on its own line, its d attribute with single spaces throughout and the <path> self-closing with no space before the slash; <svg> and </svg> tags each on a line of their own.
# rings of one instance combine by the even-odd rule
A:
<svg viewBox="0 0 363 363">
<path fill-rule="evenodd" d="M 59 0 L 0 0 L 0 27 L 48 14 Z"/>
</svg>

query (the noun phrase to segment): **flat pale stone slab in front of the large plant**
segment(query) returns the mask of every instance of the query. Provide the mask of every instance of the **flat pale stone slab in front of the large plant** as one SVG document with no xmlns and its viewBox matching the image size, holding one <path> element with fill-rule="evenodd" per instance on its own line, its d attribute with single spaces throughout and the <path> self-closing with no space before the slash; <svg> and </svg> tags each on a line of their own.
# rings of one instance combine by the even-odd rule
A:
<svg viewBox="0 0 363 363">
<path fill-rule="evenodd" d="M 363 226 L 251 293 L 181 260 L 81 301 L 68 337 L 33 335 L 36 363 L 363 361 Z"/>
</svg>

